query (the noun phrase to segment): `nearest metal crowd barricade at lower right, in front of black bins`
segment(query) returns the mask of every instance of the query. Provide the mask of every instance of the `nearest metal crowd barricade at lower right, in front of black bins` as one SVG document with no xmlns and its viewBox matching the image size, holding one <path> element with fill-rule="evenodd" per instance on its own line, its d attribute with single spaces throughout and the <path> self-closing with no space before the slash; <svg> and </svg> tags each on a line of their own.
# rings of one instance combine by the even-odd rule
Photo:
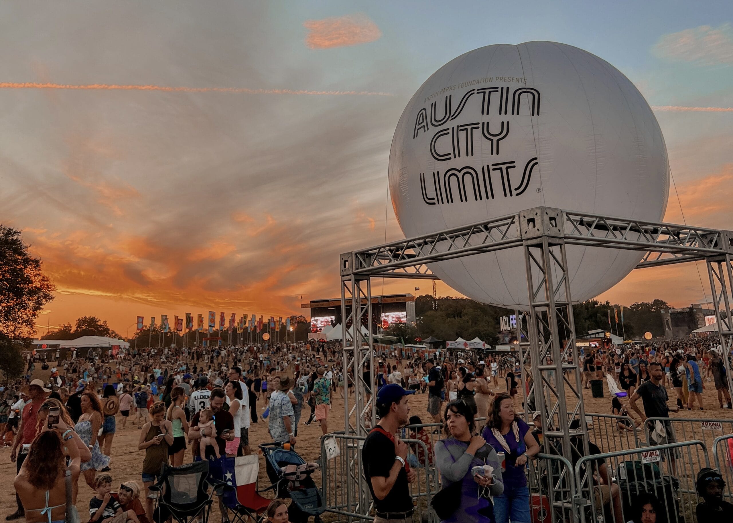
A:
<svg viewBox="0 0 733 523">
<path fill-rule="evenodd" d="M 695 455 L 704 460 L 702 466 L 709 467 L 707 446 L 699 439 L 583 456 L 575 464 L 575 508 L 579 521 L 628 522 L 635 516 L 632 510 L 636 499 L 653 494 L 660 510 L 666 512 L 666 522 L 695 522 L 695 508 L 701 501 L 695 489 L 699 468 L 693 468 L 685 459 L 693 455 L 693 448 Z M 600 459 L 611 476 L 610 485 L 598 486 L 594 479 L 594 475 L 603 475 Z"/>
</svg>

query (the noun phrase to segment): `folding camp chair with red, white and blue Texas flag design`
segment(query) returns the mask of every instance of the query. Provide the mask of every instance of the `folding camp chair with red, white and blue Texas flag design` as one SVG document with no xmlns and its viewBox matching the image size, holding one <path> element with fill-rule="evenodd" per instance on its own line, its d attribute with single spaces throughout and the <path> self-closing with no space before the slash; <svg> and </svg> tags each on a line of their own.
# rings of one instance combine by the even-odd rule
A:
<svg viewBox="0 0 733 523">
<path fill-rule="evenodd" d="M 270 501 L 257 492 L 259 456 L 226 457 L 212 461 L 210 483 L 220 496 L 225 521 L 245 523 L 248 519 L 261 522 Z M 266 489 L 268 490 L 268 489 Z"/>
</svg>

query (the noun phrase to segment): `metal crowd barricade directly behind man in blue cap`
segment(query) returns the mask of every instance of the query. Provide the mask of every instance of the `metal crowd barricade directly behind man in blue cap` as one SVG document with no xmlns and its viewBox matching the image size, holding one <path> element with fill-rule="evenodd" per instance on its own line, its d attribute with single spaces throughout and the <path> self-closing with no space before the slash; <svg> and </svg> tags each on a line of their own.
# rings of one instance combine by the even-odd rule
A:
<svg viewBox="0 0 733 523">
<path fill-rule="evenodd" d="M 330 438 L 334 439 L 338 448 L 331 456 L 326 444 Z M 326 434 L 321 438 L 321 488 L 326 511 L 347 516 L 349 521 L 374 519 L 371 515 L 372 496 L 361 464 L 361 448 L 365 439 L 353 434 L 347 435 L 343 431 Z M 410 484 L 414 505 L 413 521 L 427 520 L 428 523 L 437 523 L 438 518 L 430 509 L 430 500 L 432 494 L 437 492 L 438 479 L 435 477 L 435 468 L 430 465 L 427 445 L 419 439 L 404 438 L 403 441 L 413 454 L 413 465 L 417 465 L 417 479 Z"/>
</svg>

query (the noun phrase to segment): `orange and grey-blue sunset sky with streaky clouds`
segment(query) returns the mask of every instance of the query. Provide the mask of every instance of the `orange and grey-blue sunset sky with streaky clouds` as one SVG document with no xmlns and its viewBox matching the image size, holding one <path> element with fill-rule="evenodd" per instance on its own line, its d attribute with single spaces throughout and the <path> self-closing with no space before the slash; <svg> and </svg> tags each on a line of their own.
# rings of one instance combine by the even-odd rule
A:
<svg viewBox="0 0 733 523">
<path fill-rule="evenodd" d="M 402 237 L 387 191 L 402 109 L 495 43 L 564 42 L 621 70 L 666 138 L 665 220 L 681 204 L 733 229 L 729 1 L 31 0 L 0 20 L 0 223 L 58 287 L 43 326 L 95 314 L 125 335 L 136 315 L 285 316 L 337 296 L 339 253 Z M 638 270 L 601 298 L 697 303 L 699 271 Z M 430 292 L 384 291 L 413 286 Z"/>
</svg>

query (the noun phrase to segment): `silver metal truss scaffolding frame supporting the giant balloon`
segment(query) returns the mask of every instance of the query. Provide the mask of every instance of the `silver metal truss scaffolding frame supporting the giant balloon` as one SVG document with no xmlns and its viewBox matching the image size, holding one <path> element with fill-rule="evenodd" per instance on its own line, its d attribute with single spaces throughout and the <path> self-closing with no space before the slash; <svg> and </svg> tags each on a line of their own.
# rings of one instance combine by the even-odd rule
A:
<svg viewBox="0 0 733 523">
<path fill-rule="evenodd" d="M 427 264 L 521 248 L 526 264 L 529 308 L 523 315 L 526 327 L 517 315 L 517 341 L 521 342 L 520 331 L 524 330 L 529 350 L 520 344 L 520 365 L 523 377 L 524 371 L 531 369 L 533 385 L 528 396 L 534 395 L 536 408 L 542 413 L 545 438 L 554 439 L 555 447 L 561 449 L 570 462 L 573 441 L 582 441 L 587 455 L 585 423 L 581 423 L 579 429 L 570 430 L 572 419 L 585 419 L 585 412 L 566 245 L 644 252 L 637 269 L 705 261 L 723 354 L 730 355 L 733 343 L 730 319 L 733 231 L 535 207 L 340 256 L 344 374 L 347 379 L 353 376 L 355 382 L 353 393 L 345 387 L 345 433 L 366 436 L 369 426 L 374 426 L 376 421 L 375 395 L 370 394 L 375 390 L 372 332 L 364 334 L 359 328 L 362 324 L 372 324 L 371 278 L 438 279 Z M 353 303 L 349 316 L 346 314 L 347 299 Z M 564 347 L 563 338 L 567 339 Z M 572 363 L 569 363 L 570 357 Z M 729 390 L 733 390 L 729 357 L 723 357 L 723 361 Z M 364 380 L 367 370 L 367 376 L 371 377 L 369 383 Z M 571 439 L 573 436 L 581 439 Z M 357 459 L 353 467 L 359 466 Z M 359 470 L 353 472 L 357 477 L 361 475 Z M 362 513 L 366 514 L 369 492 L 361 487 L 358 490 L 360 492 L 354 494 L 364 507 Z"/>
</svg>

